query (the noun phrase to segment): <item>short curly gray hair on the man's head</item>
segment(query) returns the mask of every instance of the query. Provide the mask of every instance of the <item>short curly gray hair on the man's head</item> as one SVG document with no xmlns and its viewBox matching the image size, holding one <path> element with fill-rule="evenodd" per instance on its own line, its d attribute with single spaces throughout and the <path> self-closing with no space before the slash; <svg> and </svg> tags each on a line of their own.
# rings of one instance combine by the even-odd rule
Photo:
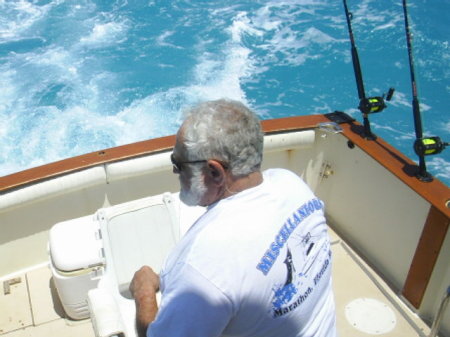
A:
<svg viewBox="0 0 450 337">
<path fill-rule="evenodd" d="M 264 134 L 244 104 L 228 99 L 201 103 L 188 112 L 184 126 L 189 160 L 222 161 L 234 176 L 260 169 Z"/>
</svg>

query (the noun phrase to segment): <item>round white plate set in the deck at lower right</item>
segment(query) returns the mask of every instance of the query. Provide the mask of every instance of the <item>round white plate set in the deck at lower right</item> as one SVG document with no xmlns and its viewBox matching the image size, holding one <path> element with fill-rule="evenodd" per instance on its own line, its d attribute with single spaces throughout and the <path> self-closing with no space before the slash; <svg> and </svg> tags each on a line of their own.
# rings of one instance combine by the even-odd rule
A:
<svg viewBox="0 0 450 337">
<path fill-rule="evenodd" d="M 347 321 L 357 330 L 380 335 L 394 329 L 395 313 L 385 303 L 373 298 L 357 298 L 345 307 Z"/>
</svg>

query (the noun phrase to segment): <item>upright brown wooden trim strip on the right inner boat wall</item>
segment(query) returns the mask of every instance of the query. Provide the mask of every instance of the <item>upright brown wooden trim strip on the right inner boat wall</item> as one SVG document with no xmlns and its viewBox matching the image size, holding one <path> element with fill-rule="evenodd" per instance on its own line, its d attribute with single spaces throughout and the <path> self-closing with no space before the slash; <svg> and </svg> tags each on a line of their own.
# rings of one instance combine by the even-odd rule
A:
<svg viewBox="0 0 450 337">
<path fill-rule="evenodd" d="M 430 208 L 402 291 L 403 296 L 417 309 L 422 303 L 449 224 L 445 214 L 436 207 Z"/>
</svg>

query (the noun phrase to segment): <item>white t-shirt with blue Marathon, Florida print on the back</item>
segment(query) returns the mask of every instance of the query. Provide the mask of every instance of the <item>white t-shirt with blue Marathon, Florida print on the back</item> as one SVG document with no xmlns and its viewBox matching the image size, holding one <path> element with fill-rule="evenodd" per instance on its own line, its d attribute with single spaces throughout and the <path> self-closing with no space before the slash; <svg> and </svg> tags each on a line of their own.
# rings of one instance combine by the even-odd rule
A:
<svg viewBox="0 0 450 337">
<path fill-rule="evenodd" d="M 336 336 L 323 203 L 290 171 L 263 176 L 177 244 L 147 336 Z"/>
</svg>

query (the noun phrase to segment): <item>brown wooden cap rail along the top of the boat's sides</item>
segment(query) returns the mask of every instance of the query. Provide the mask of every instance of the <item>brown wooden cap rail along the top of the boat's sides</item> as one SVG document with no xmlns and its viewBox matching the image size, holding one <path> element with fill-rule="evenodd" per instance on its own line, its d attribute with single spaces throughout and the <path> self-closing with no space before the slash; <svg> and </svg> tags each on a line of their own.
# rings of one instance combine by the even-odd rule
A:
<svg viewBox="0 0 450 337">
<path fill-rule="evenodd" d="M 339 116 L 338 122 L 343 128 L 342 133 L 349 141 L 450 218 L 450 209 L 447 206 L 450 202 L 450 193 L 449 188 L 443 182 L 436 178 L 432 182 L 422 182 L 417 179 L 415 176 L 418 170 L 416 163 L 381 138 L 365 139 L 362 136 L 362 125 L 344 113 L 276 118 L 263 120 L 261 124 L 266 134 L 302 131 L 314 129 L 320 123 L 335 121 L 336 115 Z M 94 166 L 170 151 L 174 145 L 175 135 L 170 135 L 95 151 L 16 172 L 0 177 L 0 195 Z"/>
</svg>

